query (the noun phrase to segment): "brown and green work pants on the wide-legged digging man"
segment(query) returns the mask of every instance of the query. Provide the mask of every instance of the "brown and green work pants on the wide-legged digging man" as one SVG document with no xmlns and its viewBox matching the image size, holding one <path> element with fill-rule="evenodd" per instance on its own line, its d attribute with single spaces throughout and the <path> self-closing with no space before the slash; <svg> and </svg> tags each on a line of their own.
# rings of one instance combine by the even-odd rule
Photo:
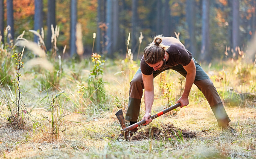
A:
<svg viewBox="0 0 256 159">
<path fill-rule="evenodd" d="M 204 72 L 202 67 L 192 58 L 195 62 L 196 75 L 194 84 L 198 87 L 199 90 L 204 94 L 204 97 L 207 99 L 212 112 L 214 113 L 215 118 L 217 119 L 219 126 L 225 126 L 230 122 L 230 119 L 226 113 L 226 110 L 221 102 L 221 98 L 218 95 L 218 92 L 212 81 L 209 79 L 209 76 Z M 154 78 L 159 75 L 161 72 L 173 69 L 179 72 L 186 78 L 186 70 L 182 65 L 169 66 L 160 71 L 154 71 Z M 142 73 L 140 68 L 134 75 L 134 78 L 130 82 L 130 92 L 129 92 L 129 103 L 128 110 L 126 112 L 125 119 L 128 121 L 137 121 L 140 113 L 140 103 L 143 95 L 144 84 L 142 80 Z"/>
</svg>

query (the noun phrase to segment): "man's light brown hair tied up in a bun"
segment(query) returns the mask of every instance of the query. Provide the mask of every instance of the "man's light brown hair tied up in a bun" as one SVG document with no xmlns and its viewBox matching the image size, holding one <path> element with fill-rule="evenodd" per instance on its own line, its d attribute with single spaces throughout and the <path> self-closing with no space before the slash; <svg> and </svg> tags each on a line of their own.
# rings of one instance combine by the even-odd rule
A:
<svg viewBox="0 0 256 159">
<path fill-rule="evenodd" d="M 157 35 L 153 42 L 144 49 L 144 60 L 147 64 L 156 64 L 163 60 L 165 51 L 169 46 L 162 44 L 162 38 L 163 35 Z"/>
</svg>

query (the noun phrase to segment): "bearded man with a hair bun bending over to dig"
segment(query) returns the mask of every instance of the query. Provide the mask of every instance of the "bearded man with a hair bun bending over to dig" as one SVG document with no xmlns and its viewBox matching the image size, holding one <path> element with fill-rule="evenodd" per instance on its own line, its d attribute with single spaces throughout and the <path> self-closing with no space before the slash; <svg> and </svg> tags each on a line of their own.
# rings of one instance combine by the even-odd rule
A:
<svg viewBox="0 0 256 159">
<path fill-rule="evenodd" d="M 140 68 L 131 80 L 126 113 L 126 120 L 130 121 L 130 125 L 138 120 L 143 89 L 145 89 L 145 115 L 143 119 L 146 120 L 146 124 L 152 121 L 149 118 L 154 101 L 153 79 L 167 69 L 173 69 L 186 78 L 184 92 L 177 101 L 177 103 L 181 103 L 181 108 L 189 105 L 188 96 L 194 83 L 207 99 L 218 121 L 218 126 L 222 127 L 222 130 L 236 134 L 236 130 L 229 125 L 230 119 L 208 75 L 179 40 L 162 35 L 156 36 L 154 41 L 144 49 Z"/>
</svg>

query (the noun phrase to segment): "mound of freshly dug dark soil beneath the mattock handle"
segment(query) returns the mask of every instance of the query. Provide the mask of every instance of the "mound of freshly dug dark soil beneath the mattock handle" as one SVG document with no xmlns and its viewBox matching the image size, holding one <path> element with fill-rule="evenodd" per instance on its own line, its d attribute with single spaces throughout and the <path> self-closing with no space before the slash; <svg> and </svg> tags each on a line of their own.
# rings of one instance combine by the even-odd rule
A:
<svg viewBox="0 0 256 159">
<path fill-rule="evenodd" d="M 182 130 L 180 128 L 174 127 L 173 124 L 168 123 L 162 125 L 163 127 L 143 127 L 137 133 L 130 138 L 130 140 L 141 140 L 141 139 L 181 139 L 181 138 L 194 138 L 196 137 L 195 132 L 188 130 Z"/>
</svg>

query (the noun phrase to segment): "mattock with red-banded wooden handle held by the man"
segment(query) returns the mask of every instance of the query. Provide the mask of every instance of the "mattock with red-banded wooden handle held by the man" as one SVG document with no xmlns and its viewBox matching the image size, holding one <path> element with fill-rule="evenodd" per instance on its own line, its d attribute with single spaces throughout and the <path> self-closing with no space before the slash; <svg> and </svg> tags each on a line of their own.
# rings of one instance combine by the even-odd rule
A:
<svg viewBox="0 0 256 159">
<path fill-rule="evenodd" d="M 181 106 L 181 104 L 177 103 L 177 104 L 175 104 L 175 105 L 173 105 L 173 106 L 171 106 L 171 107 L 169 107 L 169 108 L 167 108 L 167 109 L 165 109 L 163 111 L 160 111 L 159 113 L 156 113 L 154 116 L 151 116 L 150 119 L 152 119 L 152 120 L 156 119 L 157 117 L 162 116 L 163 114 L 168 113 L 169 111 L 174 110 L 174 109 L 176 109 L 177 107 L 180 107 L 180 106 Z M 125 126 L 124 115 L 122 113 L 122 109 L 118 110 L 116 112 L 116 117 L 117 117 L 117 119 L 119 120 L 119 122 L 121 124 L 121 127 L 122 127 L 121 134 L 122 134 L 122 136 L 125 136 L 125 139 L 127 139 L 127 133 L 129 131 L 131 131 L 131 130 L 135 129 L 136 127 L 139 127 L 140 125 L 143 125 L 143 124 L 146 123 L 146 120 L 144 119 L 144 120 L 139 121 L 139 122 L 137 122 L 135 124 L 132 124 L 129 127 L 126 127 Z"/>
</svg>

